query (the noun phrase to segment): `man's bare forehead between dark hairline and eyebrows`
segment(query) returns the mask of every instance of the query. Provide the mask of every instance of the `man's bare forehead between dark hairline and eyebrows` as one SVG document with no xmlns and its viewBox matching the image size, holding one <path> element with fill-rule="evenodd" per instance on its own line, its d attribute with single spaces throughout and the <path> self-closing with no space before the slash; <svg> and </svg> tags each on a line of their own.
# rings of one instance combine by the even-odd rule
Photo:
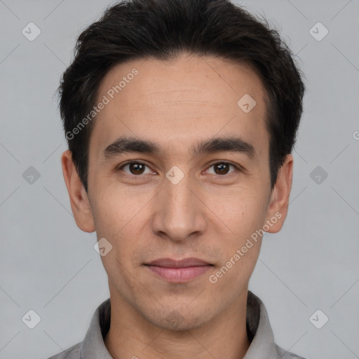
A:
<svg viewBox="0 0 359 359">
<path fill-rule="evenodd" d="M 264 87 L 248 65 L 215 57 L 133 60 L 104 76 L 96 103 L 104 97 L 90 137 L 95 154 L 122 135 L 177 152 L 215 135 L 240 135 L 258 152 L 269 142 Z"/>
</svg>

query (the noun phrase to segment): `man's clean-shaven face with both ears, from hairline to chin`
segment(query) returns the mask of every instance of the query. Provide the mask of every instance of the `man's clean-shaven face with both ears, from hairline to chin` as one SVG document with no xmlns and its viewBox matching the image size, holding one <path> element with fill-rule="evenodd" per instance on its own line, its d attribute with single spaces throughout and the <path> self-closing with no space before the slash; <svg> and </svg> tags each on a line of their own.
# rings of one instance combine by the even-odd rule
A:
<svg viewBox="0 0 359 359">
<path fill-rule="evenodd" d="M 271 191 L 262 82 L 215 57 L 135 60 L 107 73 L 96 103 L 104 96 L 88 194 L 63 155 L 76 222 L 112 246 L 101 257 L 111 303 L 157 327 L 199 327 L 246 293 L 258 233 L 285 219 L 292 162 Z M 148 265 L 188 257 L 208 265 Z"/>
</svg>

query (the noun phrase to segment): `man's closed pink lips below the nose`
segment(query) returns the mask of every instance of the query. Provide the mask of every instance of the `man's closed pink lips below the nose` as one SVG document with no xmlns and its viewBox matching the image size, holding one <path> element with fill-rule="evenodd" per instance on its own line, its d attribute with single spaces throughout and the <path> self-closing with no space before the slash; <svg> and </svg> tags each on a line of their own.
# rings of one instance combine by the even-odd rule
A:
<svg viewBox="0 0 359 359">
<path fill-rule="evenodd" d="M 181 260 L 161 258 L 145 263 L 144 266 L 147 266 L 155 276 L 169 283 L 185 283 L 210 270 L 213 264 L 191 257 Z"/>
</svg>

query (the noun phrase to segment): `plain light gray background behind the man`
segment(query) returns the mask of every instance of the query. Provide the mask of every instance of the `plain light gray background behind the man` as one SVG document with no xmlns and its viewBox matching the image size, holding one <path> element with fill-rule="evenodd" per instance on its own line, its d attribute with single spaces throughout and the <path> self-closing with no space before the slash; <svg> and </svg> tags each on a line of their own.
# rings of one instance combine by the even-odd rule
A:
<svg viewBox="0 0 359 359">
<path fill-rule="evenodd" d="M 69 206 L 54 95 L 76 37 L 108 4 L 0 0 L 0 359 L 48 358 L 76 344 L 109 297 L 95 233 L 76 227 Z M 238 4 L 279 29 L 308 88 L 288 217 L 264 237 L 250 289 L 283 348 L 359 358 L 359 1 Z M 34 41 L 22 34 L 29 22 L 41 29 Z M 317 22 L 329 31 L 321 41 L 309 32 Z M 22 176 L 29 166 L 40 174 L 33 183 Z M 32 330 L 22 323 L 29 309 L 41 317 Z M 317 309 L 329 318 L 321 329 L 309 320 Z M 323 314 L 314 318 L 323 323 Z"/>
</svg>

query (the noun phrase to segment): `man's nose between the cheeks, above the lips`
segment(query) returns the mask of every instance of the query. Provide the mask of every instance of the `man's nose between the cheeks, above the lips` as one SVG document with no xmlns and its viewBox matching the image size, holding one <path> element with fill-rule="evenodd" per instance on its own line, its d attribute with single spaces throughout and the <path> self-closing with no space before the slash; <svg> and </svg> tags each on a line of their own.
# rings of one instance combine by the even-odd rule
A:
<svg viewBox="0 0 359 359">
<path fill-rule="evenodd" d="M 205 231 L 205 204 L 189 175 L 184 175 L 177 184 L 164 179 L 156 198 L 152 226 L 156 235 L 172 241 L 184 241 Z"/>
</svg>

